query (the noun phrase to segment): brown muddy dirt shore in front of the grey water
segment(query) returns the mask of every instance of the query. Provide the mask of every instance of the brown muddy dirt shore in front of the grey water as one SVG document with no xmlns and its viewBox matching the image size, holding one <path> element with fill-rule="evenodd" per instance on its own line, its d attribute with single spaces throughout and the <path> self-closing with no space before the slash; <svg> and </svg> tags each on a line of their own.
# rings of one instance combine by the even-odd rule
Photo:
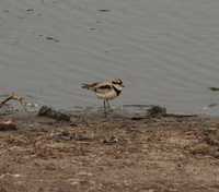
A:
<svg viewBox="0 0 219 192">
<path fill-rule="evenodd" d="M 0 192 L 218 192 L 219 119 L 4 116 Z"/>
</svg>

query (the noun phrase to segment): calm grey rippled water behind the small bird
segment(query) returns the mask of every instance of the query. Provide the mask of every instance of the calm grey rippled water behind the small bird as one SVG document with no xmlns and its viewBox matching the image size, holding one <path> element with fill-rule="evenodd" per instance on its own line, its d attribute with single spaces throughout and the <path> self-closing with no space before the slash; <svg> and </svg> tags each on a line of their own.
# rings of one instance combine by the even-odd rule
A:
<svg viewBox="0 0 219 192">
<path fill-rule="evenodd" d="M 100 106 L 80 84 L 120 77 L 115 106 L 201 113 L 219 103 L 207 88 L 219 86 L 218 10 L 218 0 L 1 0 L 0 94 Z"/>
</svg>

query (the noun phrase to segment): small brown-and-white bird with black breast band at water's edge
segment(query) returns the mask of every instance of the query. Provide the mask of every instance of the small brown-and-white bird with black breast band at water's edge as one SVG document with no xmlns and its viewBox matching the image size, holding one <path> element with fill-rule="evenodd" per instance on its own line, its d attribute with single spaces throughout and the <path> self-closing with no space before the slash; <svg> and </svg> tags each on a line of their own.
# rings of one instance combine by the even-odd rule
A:
<svg viewBox="0 0 219 192">
<path fill-rule="evenodd" d="M 120 79 L 105 80 L 104 82 L 83 83 L 82 88 L 92 91 L 96 97 L 103 99 L 104 111 L 106 113 L 106 104 L 110 108 L 110 101 L 122 94 L 124 84 Z"/>
</svg>

